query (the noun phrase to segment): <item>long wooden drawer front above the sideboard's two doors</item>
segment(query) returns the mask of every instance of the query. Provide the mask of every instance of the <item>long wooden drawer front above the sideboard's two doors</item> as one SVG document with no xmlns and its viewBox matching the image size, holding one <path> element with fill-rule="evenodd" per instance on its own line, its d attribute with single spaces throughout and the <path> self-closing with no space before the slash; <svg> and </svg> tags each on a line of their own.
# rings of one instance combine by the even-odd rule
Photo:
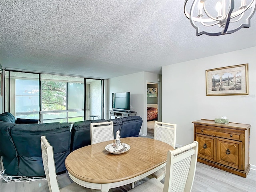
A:
<svg viewBox="0 0 256 192">
<path fill-rule="evenodd" d="M 240 140 L 240 134 L 218 132 L 216 130 L 206 129 L 202 127 L 196 127 L 196 133 L 210 135 L 215 137 L 227 138 L 232 140 Z"/>
</svg>

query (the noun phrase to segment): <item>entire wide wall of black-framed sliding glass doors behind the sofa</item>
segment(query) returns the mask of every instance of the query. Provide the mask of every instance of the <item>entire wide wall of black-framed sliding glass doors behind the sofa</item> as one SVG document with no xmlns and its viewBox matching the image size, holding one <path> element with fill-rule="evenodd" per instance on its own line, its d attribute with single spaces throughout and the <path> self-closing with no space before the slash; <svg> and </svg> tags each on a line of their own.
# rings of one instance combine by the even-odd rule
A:
<svg viewBox="0 0 256 192">
<path fill-rule="evenodd" d="M 103 80 L 5 72 L 5 112 L 41 123 L 103 118 Z"/>
</svg>

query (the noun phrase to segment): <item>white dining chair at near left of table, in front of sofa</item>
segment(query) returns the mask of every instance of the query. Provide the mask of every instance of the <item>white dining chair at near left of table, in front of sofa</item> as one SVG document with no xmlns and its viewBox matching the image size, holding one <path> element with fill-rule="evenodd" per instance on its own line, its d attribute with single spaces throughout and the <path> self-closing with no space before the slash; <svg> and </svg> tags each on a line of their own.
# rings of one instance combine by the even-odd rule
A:
<svg viewBox="0 0 256 192">
<path fill-rule="evenodd" d="M 50 192 L 100 192 L 100 190 L 85 188 L 76 184 L 75 182 L 60 189 L 56 178 L 53 147 L 46 139 L 46 136 L 41 136 L 41 150 L 44 172 Z"/>
</svg>

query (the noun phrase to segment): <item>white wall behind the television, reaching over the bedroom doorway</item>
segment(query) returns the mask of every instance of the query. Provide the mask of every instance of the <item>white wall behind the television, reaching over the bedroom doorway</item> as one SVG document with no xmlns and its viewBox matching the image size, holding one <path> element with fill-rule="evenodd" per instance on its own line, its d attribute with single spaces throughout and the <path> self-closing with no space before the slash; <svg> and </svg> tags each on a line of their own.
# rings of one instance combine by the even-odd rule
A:
<svg viewBox="0 0 256 192">
<path fill-rule="evenodd" d="M 109 79 L 109 107 L 112 106 L 112 93 L 130 92 L 131 110 L 136 111 L 138 116 L 142 117 L 143 124 L 140 135 L 147 135 L 147 82 L 157 83 L 158 74 L 139 72 L 130 75 L 119 76 Z"/>
</svg>

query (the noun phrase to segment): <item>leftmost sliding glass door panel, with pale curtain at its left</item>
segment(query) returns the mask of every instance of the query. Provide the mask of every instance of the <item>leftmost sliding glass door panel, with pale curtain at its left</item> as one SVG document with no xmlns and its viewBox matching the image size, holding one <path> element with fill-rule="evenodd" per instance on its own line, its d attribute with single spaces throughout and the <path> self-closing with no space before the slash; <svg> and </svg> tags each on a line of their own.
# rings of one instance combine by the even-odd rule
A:
<svg viewBox="0 0 256 192">
<path fill-rule="evenodd" d="M 39 120 L 39 74 L 6 71 L 5 82 L 5 111 L 16 118 Z"/>
</svg>

